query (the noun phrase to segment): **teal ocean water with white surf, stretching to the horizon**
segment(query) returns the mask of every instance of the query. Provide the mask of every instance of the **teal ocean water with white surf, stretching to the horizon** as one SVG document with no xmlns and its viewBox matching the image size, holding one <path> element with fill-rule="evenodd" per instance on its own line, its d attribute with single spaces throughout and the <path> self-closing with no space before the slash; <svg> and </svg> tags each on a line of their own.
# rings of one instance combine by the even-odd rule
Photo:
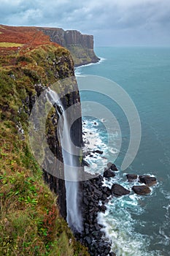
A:
<svg viewBox="0 0 170 256">
<path fill-rule="evenodd" d="M 81 100 L 98 102 L 111 111 L 111 143 L 108 146 L 106 124 L 88 116 L 88 105 L 82 105 L 86 151 L 100 149 L 102 155 L 91 154 L 87 171 L 102 172 L 107 162 L 119 167 L 117 176 L 105 181 L 122 184 L 131 189 L 126 173 L 150 174 L 158 179 L 147 196 L 133 192 L 128 196 L 114 197 L 105 214 L 98 219 L 106 226 L 117 256 L 170 255 L 170 48 L 96 48 L 101 57 L 98 64 L 76 69 L 77 78 L 98 75 L 115 81 L 134 101 L 138 110 L 142 138 L 134 161 L 126 170 L 120 170 L 130 140 L 130 129 L 123 110 L 112 99 L 95 91 L 80 91 Z M 100 85 L 99 85 L 100 86 Z M 107 91 L 106 91 L 107 94 Z M 116 97 L 116 96 L 115 96 Z M 90 108 L 90 107 L 89 107 Z M 121 146 L 120 146 L 121 141 Z"/>
</svg>

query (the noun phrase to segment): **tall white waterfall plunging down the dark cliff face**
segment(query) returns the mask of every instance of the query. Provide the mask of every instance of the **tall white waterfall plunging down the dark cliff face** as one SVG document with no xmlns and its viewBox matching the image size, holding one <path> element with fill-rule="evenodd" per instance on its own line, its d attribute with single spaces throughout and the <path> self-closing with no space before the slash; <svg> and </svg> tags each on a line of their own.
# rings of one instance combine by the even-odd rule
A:
<svg viewBox="0 0 170 256">
<path fill-rule="evenodd" d="M 58 132 L 61 140 L 61 148 L 63 154 L 64 177 L 66 187 L 66 212 L 67 222 L 73 231 L 81 232 L 82 217 L 79 209 L 78 195 L 78 167 L 77 159 L 72 151 L 72 143 L 70 139 L 70 126 L 66 111 L 63 108 L 62 102 L 58 94 L 51 89 L 47 89 L 47 99 L 55 107 L 59 118 L 62 118 L 58 127 Z"/>
</svg>

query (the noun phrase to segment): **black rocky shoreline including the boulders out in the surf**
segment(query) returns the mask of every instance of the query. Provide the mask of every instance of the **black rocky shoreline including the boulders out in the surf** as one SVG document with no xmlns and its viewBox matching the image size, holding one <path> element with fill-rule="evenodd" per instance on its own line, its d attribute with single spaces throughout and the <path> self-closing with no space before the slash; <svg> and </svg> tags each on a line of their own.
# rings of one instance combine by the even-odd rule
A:
<svg viewBox="0 0 170 256">
<path fill-rule="evenodd" d="M 104 186 L 104 178 L 110 179 L 116 176 L 117 167 L 109 162 L 104 174 L 91 178 L 88 181 L 80 183 L 82 191 L 82 233 L 75 234 L 76 238 L 82 244 L 88 247 L 88 252 L 92 256 L 115 256 L 112 252 L 112 241 L 109 241 L 104 233 L 104 225 L 98 223 L 98 213 L 107 210 L 106 204 L 112 197 L 128 195 L 134 191 L 137 195 L 147 195 L 150 193 L 150 186 L 156 184 L 156 178 L 152 176 L 137 176 L 136 174 L 127 174 L 127 180 L 140 182 L 141 185 L 131 187 L 131 191 L 125 189 L 120 184 L 113 183 L 112 187 Z"/>
</svg>

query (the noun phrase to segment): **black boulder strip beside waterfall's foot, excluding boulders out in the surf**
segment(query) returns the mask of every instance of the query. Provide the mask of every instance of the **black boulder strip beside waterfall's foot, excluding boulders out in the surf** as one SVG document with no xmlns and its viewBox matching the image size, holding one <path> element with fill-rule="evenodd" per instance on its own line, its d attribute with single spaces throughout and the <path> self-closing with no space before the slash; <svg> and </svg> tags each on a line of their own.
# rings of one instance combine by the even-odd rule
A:
<svg viewBox="0 0 170 256">
<path fill-rule="evenodd" d="M 111 244 L 101 231 L 103 227 L 98 223 L 98 212 L 105 212 L 107 207 L 104 203 L 107 197 L 111 195 L 111 189 L 103 186 L 103 176 L 98 175 L 88 181 L 82 181 L 82 217 L 83 230 L 77 237 L 82 244 L 88 246 L 90 255 L 93 256 L 107 256 L 111 250 Z"/>
</svg>

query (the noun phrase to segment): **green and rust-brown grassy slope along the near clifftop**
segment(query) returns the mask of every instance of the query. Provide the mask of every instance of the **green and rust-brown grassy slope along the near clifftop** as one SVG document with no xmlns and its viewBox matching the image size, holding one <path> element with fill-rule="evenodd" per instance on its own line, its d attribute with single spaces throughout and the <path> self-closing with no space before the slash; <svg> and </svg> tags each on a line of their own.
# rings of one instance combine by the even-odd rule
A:
<svg viewBox="0 0 170 256">
<path fill-rule="evenodd" d="M 0 32 L 0 42 L 23 45 L 0 46 L 0 255 L 88 255 L 42 181 L 42 170 L 28 146 L 28 109 L 23 109 L 23 100 L 36 94 L 35 83 L 54 82 L 49 68 L 53 57 L 68 53 L 34 28 L 0 26 Z"/>
</svg>

